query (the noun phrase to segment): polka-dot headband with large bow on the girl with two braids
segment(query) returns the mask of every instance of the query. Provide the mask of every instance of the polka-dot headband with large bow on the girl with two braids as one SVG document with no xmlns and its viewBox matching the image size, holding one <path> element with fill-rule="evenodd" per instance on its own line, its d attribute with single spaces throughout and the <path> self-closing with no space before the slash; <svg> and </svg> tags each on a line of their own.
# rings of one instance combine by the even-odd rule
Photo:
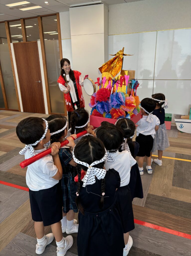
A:
<svg viewBox="0 0 191 256">
<path fill-rule="evenodd" d="M 105 161 L 105 159 L 107 157 L 106 150 L 105 150 L 105 155 L 100 160 L 94 161 L 90 165 L 85 163 L 85 162 L 82 162 L 82 161 L 78 160 L 75 157 L 75 155 L 74 155 L 74 150 L 73 150 L 72 154 L 73 154 L 73 159 L 74 159 L 75 163 L 81 164 L 81 165 L 84 165 L 84 166 L 88 167 L 88 170 L 87 170 L 87 173 L 86 173 L 86 176 L 85 176 L 85 180 L 83 182 L 82 187 L 85 187 L 86 185 L 92 185 L 92 184 L 96 183 L 95 176 L 98 179 L 103 179 L 105 177 L 105 174 L 106 174 L 106 170 L 105 169 L 101 169 L 101 168 L 97 168 L 97 167 L 93 167 L 93 166 Z"/>
</svg>

